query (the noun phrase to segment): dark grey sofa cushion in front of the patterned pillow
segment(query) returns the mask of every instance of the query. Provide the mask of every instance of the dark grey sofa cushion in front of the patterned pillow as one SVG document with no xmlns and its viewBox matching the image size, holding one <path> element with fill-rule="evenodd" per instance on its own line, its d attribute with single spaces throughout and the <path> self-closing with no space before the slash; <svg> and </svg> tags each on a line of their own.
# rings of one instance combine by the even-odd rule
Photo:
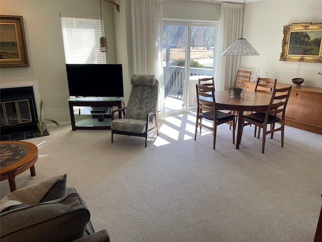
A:
<svg viewBox="0 0 322 242">
<path fill-rule="evenodd" d="M 60 242 L 82 237 L 90 220 L 77 193 L 0 214 L 1 242 Z"/>
</svg>

